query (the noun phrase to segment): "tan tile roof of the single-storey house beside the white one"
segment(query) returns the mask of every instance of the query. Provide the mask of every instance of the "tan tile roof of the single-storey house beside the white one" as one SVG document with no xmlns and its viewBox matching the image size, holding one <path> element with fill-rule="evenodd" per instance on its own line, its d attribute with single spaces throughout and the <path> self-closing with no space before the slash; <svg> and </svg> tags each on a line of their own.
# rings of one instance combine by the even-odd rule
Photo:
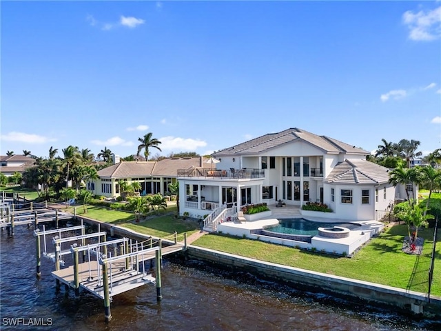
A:
<svg viewBox="0 0 441 331">
<path fill-rule="evenodd" d="M 169 158 L 161 161 L 123 161 L 99 170 L 99 177 L 130 178 L 147 176 L 177 177 L 178 169 L 208 168 L 202 157 Z"/>
</svg>

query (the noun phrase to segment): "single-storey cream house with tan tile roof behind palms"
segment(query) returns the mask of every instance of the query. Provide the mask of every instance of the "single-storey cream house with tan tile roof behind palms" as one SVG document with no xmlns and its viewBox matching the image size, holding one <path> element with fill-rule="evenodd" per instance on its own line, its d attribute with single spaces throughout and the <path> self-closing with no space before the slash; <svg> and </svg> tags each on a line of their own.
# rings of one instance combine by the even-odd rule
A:
<svg viewBox="0 0 441 331">
<path fill-rule="evenodd" d="M 123 161 L 99 170 L 99 179 L 88 183 L 88 190 L 105 197 L 119 197 L 118 181 L 139 181 L 142 195 L 165 194 L 168 185 L 176 182 L 178 169 L 207 167 L 203 157 L 176 157 L 161 161 Z"/>
</svg>

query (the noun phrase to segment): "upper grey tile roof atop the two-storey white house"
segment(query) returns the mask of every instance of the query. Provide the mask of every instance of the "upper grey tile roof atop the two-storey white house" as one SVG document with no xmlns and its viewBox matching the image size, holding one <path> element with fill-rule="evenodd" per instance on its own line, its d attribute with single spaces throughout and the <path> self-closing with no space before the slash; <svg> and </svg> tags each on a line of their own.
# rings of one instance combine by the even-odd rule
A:
<svg viewBox="0 0 441 331">
<path fill-rule="evenodd" d="M 213 153 L 213 155 L 220 157 L 234 154 L 259 154 L 292 141 L 305 141 L 329 154 L 369 154 L 369 152 L 362 150 L 362 148 L 356 148 L 356 146 L 351 146 L 337 139 L 318 136 L 317 134 L 298 128 L 289 128 L 281 132 L 265 134 L 230 148 L 225 148 L 224 150 Z"/>
</svg>

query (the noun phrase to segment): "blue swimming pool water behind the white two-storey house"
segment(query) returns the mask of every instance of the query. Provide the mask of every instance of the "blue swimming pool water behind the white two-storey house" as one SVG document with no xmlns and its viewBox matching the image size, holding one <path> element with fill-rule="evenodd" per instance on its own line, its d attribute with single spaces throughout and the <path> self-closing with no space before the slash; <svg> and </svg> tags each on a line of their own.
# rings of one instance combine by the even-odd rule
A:
<svg viewBox="0 0 441 331">
<path fill-rule="evenodd" d="M 360 225 L 356 223 L 322 223 L 308 221 L 307 219 L 279 219 L 278 225 L 265 228 L 265 230 L 278 233 L 287 234 L 302 234 L 306 236 L 316 236 L 318 228 L 332 228 L 334 226 L 341 226 L 349 230 L 356 230 Z"/>
</svg>

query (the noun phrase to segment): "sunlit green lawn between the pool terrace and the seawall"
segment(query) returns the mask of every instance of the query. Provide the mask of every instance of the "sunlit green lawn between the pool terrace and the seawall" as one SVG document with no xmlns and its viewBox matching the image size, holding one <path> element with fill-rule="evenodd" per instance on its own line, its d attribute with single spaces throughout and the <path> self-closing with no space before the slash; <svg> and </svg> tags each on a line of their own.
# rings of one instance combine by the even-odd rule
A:
<svg viewBox="0 0 441 331">
<path fill-rule="evenodd" d="M 393 226 L 371 240 L 352 258 L 335 257 L 319 252 L 308 252 L 262 241 L 216 234 L 205 235 L 192 244 L 296 268 L 427 292 L 427 272 L 433 247 L 433 229 L 424 229 L 419 232 L 419 236 L 424 237 L 423 254 L 419 258 L 401 251 L 405 235 L 407 235 L 405 225 Z M 439 276 L 441 274 L 441 241 L 437 244 L 432 294 L 441 296 L 441 277 Z M 414 268 L 415 272 L 413 272 Z"/>
</svg>

